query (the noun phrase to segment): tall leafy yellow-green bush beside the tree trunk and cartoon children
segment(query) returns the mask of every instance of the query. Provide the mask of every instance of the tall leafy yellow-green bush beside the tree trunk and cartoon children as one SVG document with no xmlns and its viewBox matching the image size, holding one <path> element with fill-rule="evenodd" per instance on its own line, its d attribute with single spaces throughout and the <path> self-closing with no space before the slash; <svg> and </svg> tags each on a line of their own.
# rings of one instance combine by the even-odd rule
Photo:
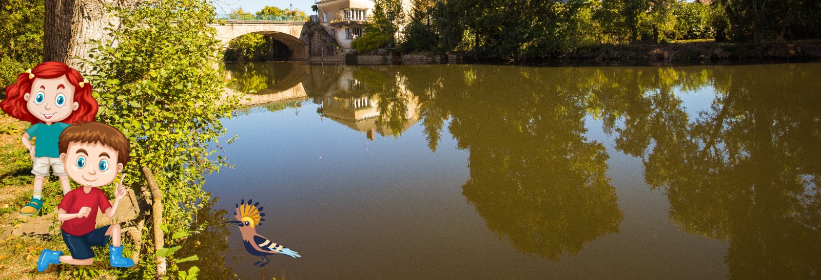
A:
<svg viewBox="0 0 821 280">
<path fill-rule="evenodd" d="M 200 201 L 208 197 L 203 174 L 225 165 L 221 157 L 209 159 L 215 152 L 210 145 L 225 133 L 220 120 L 239 105 L 240 97 L 224 96 L 227 84 L 216 67 L 220 43 L 209 26 L 213 9 L 198 0 L 114 7 L 121 26 L 110 28 L 111 40 L 94 42 L 85 61 L 100 105 L 97 120 L 120 129 L 131 142 L 126 184 L 145 184 L 142 167 L 154 172 L 169 232 L 189 230 Z M 127 273 L 152 277 L 153 262 L 140 262 Z"/>
</svg>

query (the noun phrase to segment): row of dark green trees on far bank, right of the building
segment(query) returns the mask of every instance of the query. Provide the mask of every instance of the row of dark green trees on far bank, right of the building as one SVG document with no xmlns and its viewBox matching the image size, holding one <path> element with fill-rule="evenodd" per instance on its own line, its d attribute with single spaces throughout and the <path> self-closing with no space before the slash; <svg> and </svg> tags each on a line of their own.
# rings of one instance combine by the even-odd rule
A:
<svg viewBox="0 0 821 280">
<path fill-rule="evenodd" d="M 375 4 L 366 32 L 389 35 L 403 52 L 527 59 L 607 43 L 821 38 L 819 1 L 412 0 L 407 15 L 393 9 L 401 0 Z"/>
</svg>

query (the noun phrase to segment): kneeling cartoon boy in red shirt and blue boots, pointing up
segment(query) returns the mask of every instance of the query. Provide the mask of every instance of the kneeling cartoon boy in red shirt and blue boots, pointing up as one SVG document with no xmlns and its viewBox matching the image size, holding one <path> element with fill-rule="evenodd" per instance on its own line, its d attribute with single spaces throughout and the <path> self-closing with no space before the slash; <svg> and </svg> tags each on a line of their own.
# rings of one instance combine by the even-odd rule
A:
<svg viewBox="0 0 821 280">
<path fill-rule="evenodd" d="M 68 177 L 82 187 L 68 192 L 57 206 L 57 220 L 62 222 L 62 240 L 71 255 L 44 249 L 37 262 L 37 271 L 45 271 L 49 264 L 92 264 L 94 251 L 91 246 L 106 246 L 109 237 L 112 237 L 112 245 L 108 246 L 111 266 L 134 266 L 133 260 L 122 256 L 119 224 L 95 229 L 97 210 L 112 218 L 120 200 L 126 196 L 126 187 L 122 185 L 126 174 L 122 174 L 117 184 L 113 205 L 99 187 L 114 182 L 128 163 L 128 139 L 110 125 L 93 121 L 69 126 L 60 135 L 57 146 Z"/>
</svg>

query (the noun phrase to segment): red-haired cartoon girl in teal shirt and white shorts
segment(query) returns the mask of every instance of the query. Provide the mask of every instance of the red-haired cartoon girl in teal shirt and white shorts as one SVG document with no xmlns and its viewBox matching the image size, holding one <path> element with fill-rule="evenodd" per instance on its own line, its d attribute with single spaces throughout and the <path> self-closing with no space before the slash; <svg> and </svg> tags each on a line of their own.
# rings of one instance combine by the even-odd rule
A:
<svg viewBox="0 0 821 280">
<path fill-rule="evenodd" d="M 6 88 L 6 99 L 0 109 L 17 120 L 32 125 L 23 133 L 23 145 L 29 149 L 34 166 L 34 195 L 20 209 L 21 215 L 36 215 L 43 206 L 43 181 L 48 169 L 60 178 L 62 193 L 71 191 L 66 171 L 60 163 L 57 139 L 63 129 L 77 122 L 94 120 L 97 101 L 91 97 L 91 85 L 80 72 L 57 61 L 48 61 L 17 76 L 17 83 Z M 36 138 L 36 145 L 31 139 Z"/>
</svg>

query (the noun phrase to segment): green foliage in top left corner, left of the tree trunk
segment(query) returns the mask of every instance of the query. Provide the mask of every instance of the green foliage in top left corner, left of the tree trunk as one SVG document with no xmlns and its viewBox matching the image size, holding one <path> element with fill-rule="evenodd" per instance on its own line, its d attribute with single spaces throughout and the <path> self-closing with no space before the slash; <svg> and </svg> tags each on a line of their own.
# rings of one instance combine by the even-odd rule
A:
<svg viewBox="0 0 821 280">
<path fill-rule="evenodd" d="M 44 6 L 42 1 L 0 3 L 0 88 L 5 88 L 43 61 Z"/>
</svg>

